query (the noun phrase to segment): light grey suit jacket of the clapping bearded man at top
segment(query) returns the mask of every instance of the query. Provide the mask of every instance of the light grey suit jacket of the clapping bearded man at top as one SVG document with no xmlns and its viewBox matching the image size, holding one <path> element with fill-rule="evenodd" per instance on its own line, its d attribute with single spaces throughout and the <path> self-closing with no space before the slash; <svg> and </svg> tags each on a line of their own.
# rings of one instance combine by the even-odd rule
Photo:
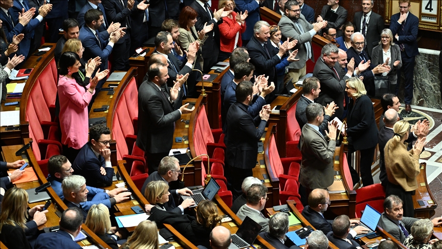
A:
<svg viewBox="0 0 442 249">
<path fill-rule="evenodd" d="M 312 35 L 308 32 L 313 29 L 313 25 L 308 23 L 304 15 L 302 14 L 299 17 L 298 22 L 304 30 L 303 34 L 301 34 L 301 31 L 298 29 L 298 27 L 296 27 L 292 19 L 285 15 L 281 17 L 278 24 L 282 34 L 281 40 L 287 40 L 287 37 L 292 37 L 293 39 L 298 40 L 298 44 L 293 49 L 298 50 L 298 55 L 296 56 L 296 58 L 299 60 L 290 63 L 289 69 L 301 69 L 305 67 L 305 64 L 307 63 L 307 47 L 305 45 L 306 43 L 310 43 L 310 52 L 312 54 L 311 60 L 315 62 L 315 56 L 313 55 L 312 47 Z"/>
</svg>

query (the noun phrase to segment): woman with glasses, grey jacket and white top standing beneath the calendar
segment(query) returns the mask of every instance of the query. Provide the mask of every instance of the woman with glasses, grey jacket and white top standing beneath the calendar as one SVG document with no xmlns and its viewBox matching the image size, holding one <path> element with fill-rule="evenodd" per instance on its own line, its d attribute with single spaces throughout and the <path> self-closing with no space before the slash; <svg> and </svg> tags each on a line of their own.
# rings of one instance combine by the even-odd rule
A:
<svg viewBox="0 0 442 249">
<path fill-rule="evenodd" d="M 395 93 L 397 85 L 397 70 L 402 67 L 401 51 L 399 46 L 393 43 L 391 30 L 384 29 L 381 32 L 379 45 L 373 48 L 371 53 L 371 64 L 374 66 L 387 63 L 390 72 L 379 74 L 378 76 L 390 77 L 390 93 Z"/>
</svg>

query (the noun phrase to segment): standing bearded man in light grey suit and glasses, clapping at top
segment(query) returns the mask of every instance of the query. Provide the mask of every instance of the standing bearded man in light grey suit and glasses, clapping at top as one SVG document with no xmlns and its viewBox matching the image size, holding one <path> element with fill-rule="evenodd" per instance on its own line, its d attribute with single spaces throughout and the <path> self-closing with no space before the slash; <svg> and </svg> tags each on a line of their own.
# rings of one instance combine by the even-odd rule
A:
<svg viewBox="0 0 442 249">
<path fill-rule="evenodd" d="M 279 20 L 279 28 L 283 40 L 288 37 L 298 40 L 298 44 L 294 49 L 298 49 L 297 61 L 289 65 L 288 78 L 292 78 L 293 82 L 306 74 L 306 62 L 311 59 L 315 62 L 312 49 L 312 37 L 321 31 L 327 22 L 314 23 L 313 25 L 305 20 L 304 15 L 300 12 L 301 8 L 297 1 L 287 1 L 284 5 L 285 15 Z"/>
</svg>

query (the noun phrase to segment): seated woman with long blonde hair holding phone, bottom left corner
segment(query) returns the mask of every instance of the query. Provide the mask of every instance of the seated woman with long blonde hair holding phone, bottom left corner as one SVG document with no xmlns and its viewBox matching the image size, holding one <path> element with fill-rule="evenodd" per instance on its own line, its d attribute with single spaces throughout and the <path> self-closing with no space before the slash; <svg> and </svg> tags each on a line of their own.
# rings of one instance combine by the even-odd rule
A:
<svg viewBox="0 0 442 249">
<path fill-rule="evenodd" d="M 36 205 L 29 211 L 28 193 L 12 188 L 5 193 L 0 214 L 0 241 L 8 248 L 32 248 L 38 236 L 38 226 L 46 223 L 44 205 Z"/>
</svg>

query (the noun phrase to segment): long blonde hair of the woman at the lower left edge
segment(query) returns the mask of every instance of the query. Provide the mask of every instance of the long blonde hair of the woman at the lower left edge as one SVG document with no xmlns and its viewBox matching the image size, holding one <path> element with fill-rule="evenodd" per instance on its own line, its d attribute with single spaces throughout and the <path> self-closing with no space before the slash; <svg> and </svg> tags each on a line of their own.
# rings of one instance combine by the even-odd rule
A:
<svg viewBox="0 0 442 249">
<path fill-rule="evenodd" d="M 26 228 L 26 209 L 28 208 L 28 193 L 24 189 L 12 188 L 6 191 L 2 201 L 0 214 L 0 231 L 3 225 L 18 225 Z"/>
</svg>

